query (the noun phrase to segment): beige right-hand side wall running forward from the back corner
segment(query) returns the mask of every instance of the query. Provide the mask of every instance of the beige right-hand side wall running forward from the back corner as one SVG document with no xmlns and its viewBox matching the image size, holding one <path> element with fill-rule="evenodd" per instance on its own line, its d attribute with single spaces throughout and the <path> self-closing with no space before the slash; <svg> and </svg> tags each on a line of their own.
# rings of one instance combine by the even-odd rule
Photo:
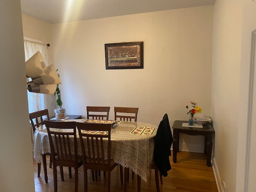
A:
<svg viewBox="0 0 256 192">
<path fill-rule="evenodd" d="M 241 62 L 242 9 L 239 1 L 216 1 L 212 67 L 214 168 L 226 190 L 235 191 Z M 221 186 L 223 187 L 223 186 Z M 224 187 L 223 187 L 224 188 Z"/>
</svg>

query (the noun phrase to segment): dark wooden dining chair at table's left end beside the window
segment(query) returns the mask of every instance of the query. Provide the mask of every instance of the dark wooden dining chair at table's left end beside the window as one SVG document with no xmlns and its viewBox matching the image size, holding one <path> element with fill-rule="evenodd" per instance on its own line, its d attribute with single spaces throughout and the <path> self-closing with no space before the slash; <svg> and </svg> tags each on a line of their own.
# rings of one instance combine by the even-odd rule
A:
<svg viewBox="0 0 256 192">
<path fill-rule="evenodd" d="M 44 125 L 44 119 L 50 120 L 48 109 L 40 110 L 37 112 L 33 112 L 29 114 L 30 123 L 32 125 L 33 132 L 36 131 L 36 128 L 38 128 L 41 125 Z M 42 154 L 42 160 L 43 160 L 43 166 L 44 166 L 44 180 L 47 183 L 48 182 L 48 176 L 47 176 L 47 168 L 46 168 L 46 155 L 50 156 L 50 153 Z M 52 158 L 50 157 L 50 168 L 52 167 Z M 41 172 L 41 163 L 38 163 L 38 173 L 37 176 L 40 177 Z"/>
</svg>

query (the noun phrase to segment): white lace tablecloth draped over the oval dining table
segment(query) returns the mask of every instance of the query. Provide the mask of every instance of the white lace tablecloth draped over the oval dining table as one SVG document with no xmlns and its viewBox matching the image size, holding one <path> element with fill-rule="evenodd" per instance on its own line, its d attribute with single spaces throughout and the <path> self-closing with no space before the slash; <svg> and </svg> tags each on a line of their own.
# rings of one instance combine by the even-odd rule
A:
<svg viewBox="0 0 256 192">
<path fill-rule="evenodd" d="M 74 120 L 82 122 L 82 119 Z M 131 132 L 135 127 L 147 126 L 155 128 L 152 135 L 134 135 Z M 143 122 L 123 122 L 111 129 L 111 158 L 114 162 L 128 167 L 147 182 L 150 174 L 154 151 L 154 136 L 157 126 Z M 50 143 L 45 126 L 40 126 L 34 132 L 34 159 L 41 162 L 41 154 L 50 153 Z M 78 155 L 82 155 L 78 139 Z"/>
</svg>

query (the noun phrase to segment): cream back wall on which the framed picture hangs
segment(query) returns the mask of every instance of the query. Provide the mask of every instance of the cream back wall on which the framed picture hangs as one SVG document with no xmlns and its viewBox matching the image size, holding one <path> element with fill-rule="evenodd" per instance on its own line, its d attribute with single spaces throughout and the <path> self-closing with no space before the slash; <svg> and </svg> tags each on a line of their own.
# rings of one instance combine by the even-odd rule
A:
<svg viewBox="0 0 256 192">
<path fill-rule="evenodd" d="M 53 24 L 63 107 L 86 118 L 86 106 L 110 106 L 110 119 L 114 106 L 139 107 L 138 121 L 167 113 L 172 125 L 194 100 L 210 116 L 212 26 L 213 6 Z M 144 69 L 106 70 L 104 44 L 134 41 L 144 41 Z M 203 152 L 201 136 L 182 141 Z"/>
</svg>

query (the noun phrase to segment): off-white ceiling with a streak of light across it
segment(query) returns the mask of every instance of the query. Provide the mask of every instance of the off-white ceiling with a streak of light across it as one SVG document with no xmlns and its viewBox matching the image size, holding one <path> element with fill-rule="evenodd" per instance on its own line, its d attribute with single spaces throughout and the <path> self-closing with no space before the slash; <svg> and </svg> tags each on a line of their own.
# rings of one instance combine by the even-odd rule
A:
<svg viewBox="0 0 256 192">
<path fill-rule="evenodd" d="M 24 14 L 61 23 L 213 5 L 215 0 L 20 0 L 20 3 Z"/>
</svg>

